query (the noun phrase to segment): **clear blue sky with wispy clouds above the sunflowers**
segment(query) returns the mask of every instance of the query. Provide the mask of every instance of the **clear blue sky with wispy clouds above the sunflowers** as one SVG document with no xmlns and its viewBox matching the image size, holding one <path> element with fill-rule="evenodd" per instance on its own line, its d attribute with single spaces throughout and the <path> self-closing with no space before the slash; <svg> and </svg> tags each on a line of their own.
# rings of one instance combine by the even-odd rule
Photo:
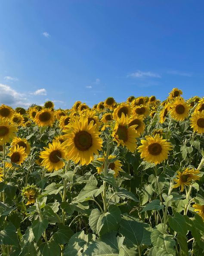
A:
<svg viewBox="0 0 204 256">
<path fill-rule="evenodd" d="M 0 103 L 204 96 L 202 0 L 1 0 Z"/>
</svg>

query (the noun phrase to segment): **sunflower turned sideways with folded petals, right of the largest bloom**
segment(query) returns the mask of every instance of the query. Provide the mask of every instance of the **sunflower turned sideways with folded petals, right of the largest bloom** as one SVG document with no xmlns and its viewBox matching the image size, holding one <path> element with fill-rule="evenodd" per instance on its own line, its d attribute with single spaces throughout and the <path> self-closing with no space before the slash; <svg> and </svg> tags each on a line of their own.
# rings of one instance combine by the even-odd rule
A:
<svg viewBox="0 0 204 256">
<path fill-rule="evenodd" d="M 117 142 L 117 146 L 122 145 L 126 146 L 132 153 L 135 151 L 136 144 L 136 125 L 128 127 L 129 118 L 122 113 L 120 119 L 117 119 L 117 122 L 114 127 L 114 131 L 111 134 L 114 138 L 114 141 Z"/>
</svg>

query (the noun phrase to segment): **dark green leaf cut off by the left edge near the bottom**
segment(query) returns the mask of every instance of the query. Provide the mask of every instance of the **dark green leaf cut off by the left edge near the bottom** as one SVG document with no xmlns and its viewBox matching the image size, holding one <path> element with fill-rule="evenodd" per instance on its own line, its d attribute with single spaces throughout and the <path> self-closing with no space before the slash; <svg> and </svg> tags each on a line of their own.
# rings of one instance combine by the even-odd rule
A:
<svg viewBox="0 0 204 256">
<path fill-rule="evenodd" d="M 4 230 L 0 231 L 0 244 L 19 246 L 15 226 L 8 222 Z"/>
</svg>

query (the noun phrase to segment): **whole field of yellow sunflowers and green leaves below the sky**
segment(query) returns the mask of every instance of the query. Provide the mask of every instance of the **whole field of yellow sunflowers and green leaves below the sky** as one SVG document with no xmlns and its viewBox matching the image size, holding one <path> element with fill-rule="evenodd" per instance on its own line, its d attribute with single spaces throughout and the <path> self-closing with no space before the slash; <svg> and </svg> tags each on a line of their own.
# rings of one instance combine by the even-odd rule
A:
<svg viewBox="0 0 204 256">
<path fill-rule="evenodd" d="M 2 256 L 204 256 L 204 98 L 0 106 Z"/>
</svg>

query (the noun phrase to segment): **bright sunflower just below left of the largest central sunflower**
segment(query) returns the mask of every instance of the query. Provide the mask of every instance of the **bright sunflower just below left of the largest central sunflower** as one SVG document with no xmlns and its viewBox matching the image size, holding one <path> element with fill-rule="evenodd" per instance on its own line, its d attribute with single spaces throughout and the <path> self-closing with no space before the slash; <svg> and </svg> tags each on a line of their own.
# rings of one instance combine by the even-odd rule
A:
<svg viewBox="0 0 204 256">
<path fill-rule="evenodd" d="M 40 158 L 43 159 L 41 165 L 45 166 L 49 172 L 62 169 L 65 163 L 59 157 L 67 159 L 65 147 L 59 141 L 53 141 L 48 147 L 44 147 L 44 151 L 40 152 Z"/>
</svg>

